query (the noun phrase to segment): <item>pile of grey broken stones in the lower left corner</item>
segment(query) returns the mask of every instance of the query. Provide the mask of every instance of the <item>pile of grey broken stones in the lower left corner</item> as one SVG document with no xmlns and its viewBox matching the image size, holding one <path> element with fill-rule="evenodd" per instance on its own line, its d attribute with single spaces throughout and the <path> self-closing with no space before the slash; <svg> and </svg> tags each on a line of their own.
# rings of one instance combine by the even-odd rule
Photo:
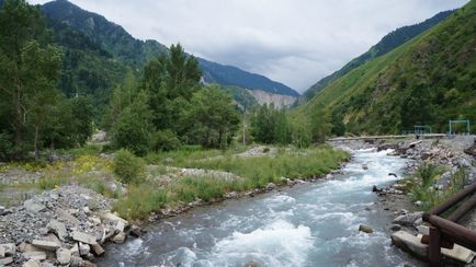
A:
<svg viewBox="0 0 476 267">
<path fill-rule="evenodd" d="M 79 186 L 26 200 L 0 216 L 0 266 L 94 266 L 104 243 L 140 236 L 110 210 L 110 199 Z"/>
</svg>

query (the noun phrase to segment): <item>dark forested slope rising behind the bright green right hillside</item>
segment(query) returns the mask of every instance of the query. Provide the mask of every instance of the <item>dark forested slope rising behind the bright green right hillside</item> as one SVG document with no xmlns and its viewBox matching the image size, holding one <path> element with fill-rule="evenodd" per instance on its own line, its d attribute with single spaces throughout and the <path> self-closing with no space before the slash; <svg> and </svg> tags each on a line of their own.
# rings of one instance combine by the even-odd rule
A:
<svg viewBox="0 0 476 267">
<path fill-rule="evenodd" d="M 358 68 L 359 66 L 362 66 L 363 63 L 379 57 L 382 55 L 385 55 L 386 53 L 397 48 L 398 46 L 405 44 L 409 39 L 413 38 L 415 36 L 423 33 L 424 31 L 429 30 L 430 27 L 437 25 L 444 19 L 446 19 L 449 15 L 451 15 L 454 11 L 444 11 L 435 14 L 434 16 L 415 24 L 410 26 L 404 26 L 399 27 L 392 33 L 385 35 L 376 45 L 372 46 L 369 51 L 362 54 L 361 56 L 352 59 L 350 62 L 348 62 L 344 67 L 342 67 L 340 70 L 333 72 L 332 74 L 325 77 L 320 79 L 316 84 L 310 86 L 304 94 L 305 100 L 313 98 L 320 90 L 326 88 L 331 82 L 336 81 L 337 79 L 343 77 L 344 74 L 349 73 L 353 69 Z"/>
</svg>

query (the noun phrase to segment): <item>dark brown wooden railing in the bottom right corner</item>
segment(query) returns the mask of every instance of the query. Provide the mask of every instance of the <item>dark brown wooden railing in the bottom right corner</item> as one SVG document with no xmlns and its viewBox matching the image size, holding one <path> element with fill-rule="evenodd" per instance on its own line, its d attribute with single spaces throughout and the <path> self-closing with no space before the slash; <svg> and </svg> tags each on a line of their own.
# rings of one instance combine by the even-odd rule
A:
<svg viewBox="0 0 476 267">
<path fill-rule="evenodd" d="M 442 213 L 460 205 L 447 218 Z M 476 251 L 476 232 L 467 229 L 457 221 L 463 218 L 476 205 L 476 183 L 464 188 L 445 202 L 437 206 L 423 214 L 423 221 L 429 222 L 430 235 L 423 236 L 421 242 L 429 244 L 428 259 L 430 266 L 441 266 L 441 247 L 453 248 L 458 244 L 468 249 Z"/>
</svg>

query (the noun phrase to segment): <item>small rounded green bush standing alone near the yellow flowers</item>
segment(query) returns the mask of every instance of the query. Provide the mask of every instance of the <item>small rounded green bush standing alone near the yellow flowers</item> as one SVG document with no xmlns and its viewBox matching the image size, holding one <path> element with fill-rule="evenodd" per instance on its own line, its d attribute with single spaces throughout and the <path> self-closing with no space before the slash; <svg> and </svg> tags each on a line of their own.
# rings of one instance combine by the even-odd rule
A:
<svg viewBox="0 0 476 267">
<path fill-rule="evenodd" d="M 139 184 L 144 179 L 145 163 L 128 150 L 117 151 L 113 161 L 113 172 L 125 184 Z"/>
</svg>

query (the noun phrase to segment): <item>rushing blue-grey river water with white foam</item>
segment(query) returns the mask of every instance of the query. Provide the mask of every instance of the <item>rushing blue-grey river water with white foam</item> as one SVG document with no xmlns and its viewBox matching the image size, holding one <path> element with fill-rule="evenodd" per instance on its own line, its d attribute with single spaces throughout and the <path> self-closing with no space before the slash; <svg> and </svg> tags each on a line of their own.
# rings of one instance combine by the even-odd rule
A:
<svg viewBox="0 0 476 267">
<path fill-rule="evenodd" d="M 362 164 L 367 164 L 364 171 Z M 404 266 L 390 245 L 390 214 L 372 186 L 400 176 L 405 160 L 360 150 L 343 174 L 254 198 L 196 208 L 107 247 L 99 266 Z M 361 223 L 374 233 L 359 232 Z"/>
</svg>

